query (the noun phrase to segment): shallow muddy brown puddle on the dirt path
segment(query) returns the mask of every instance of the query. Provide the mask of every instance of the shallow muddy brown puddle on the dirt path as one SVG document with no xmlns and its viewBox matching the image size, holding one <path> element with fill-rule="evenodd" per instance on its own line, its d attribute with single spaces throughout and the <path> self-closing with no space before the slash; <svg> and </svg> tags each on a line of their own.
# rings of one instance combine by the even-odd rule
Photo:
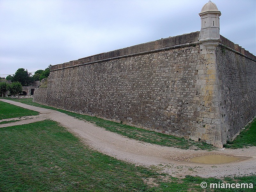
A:
<svg viewBox="0 0 256 192">
<path fill-rule="evenodd" d="M 193 157 L 188 161 L 193 163 L 202 163 L 202 164 L 222 164 L 222 163 L 231 163 L 234 161 L 241 161 L 241 160 L 244 160 L 244 158 L 238 157 L 238 156 L 212 154 L 212 155 Z"/>
</svg>

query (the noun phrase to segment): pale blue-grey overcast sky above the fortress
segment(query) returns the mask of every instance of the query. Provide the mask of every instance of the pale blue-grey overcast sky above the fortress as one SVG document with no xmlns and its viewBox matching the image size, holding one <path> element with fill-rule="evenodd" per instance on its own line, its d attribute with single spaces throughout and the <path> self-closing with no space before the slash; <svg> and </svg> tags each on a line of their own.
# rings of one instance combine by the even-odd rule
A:
<svg viewBox="0 0 256 192">
<path fill-rule="evenodd" d="M 208 0 L 0 0 L 0 76 L 200 31 Z M 220 34 L 255 52 L 255 0 L 212 0 Z"/>
</svg>

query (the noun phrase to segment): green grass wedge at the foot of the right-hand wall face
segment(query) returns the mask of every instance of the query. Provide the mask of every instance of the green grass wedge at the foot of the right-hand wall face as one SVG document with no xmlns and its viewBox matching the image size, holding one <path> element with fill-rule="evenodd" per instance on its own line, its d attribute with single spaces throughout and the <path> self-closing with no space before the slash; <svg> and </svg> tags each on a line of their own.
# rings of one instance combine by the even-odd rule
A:
<svg viewBox="0 0 256 192">
<path fill-rule="evenodd" d="M 227 141 L 225 148 L 244 148 L 256 146 L 256 118 L 237 135 L 233 141 Z"/>
</svg>

